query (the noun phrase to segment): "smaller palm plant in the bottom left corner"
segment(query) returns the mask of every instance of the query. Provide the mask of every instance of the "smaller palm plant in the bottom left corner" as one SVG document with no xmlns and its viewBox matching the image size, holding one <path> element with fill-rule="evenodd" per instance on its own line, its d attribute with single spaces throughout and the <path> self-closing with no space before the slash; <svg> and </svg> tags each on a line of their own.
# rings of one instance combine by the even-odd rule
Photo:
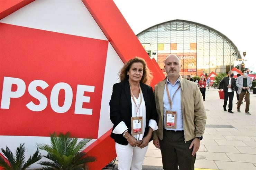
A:
<svg viewBox="0 0 256 170">
<path fill-rule="evenodd" d="M 25 170 L 28 169 L 31 164 L 39 161 L 42 158 L 37 149 L 33 156 L 30 155 L 28 160 L 25 162 L 25 150 L 24 143 L 20 144 L 20 146 L 16 149 L 16 156 L 14 157 L 13 153 L 7 146 L 5 150 L 2 148 L 1 151 L 9 163 L 5 162 L 0 156 L 0 167 L 3 167 L 6 170 Z"/>
</svg>

